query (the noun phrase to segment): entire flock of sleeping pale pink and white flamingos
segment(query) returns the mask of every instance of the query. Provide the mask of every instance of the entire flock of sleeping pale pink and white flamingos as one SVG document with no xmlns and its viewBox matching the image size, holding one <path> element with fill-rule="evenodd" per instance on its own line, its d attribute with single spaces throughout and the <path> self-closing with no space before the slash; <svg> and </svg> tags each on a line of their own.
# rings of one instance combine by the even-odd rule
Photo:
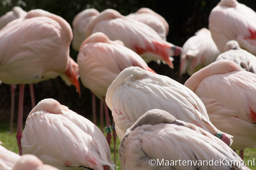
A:
<svg viewBox="0 0 256 170">
<path fill-rule="evenodd" d="M 20 85 L 19 155 L 0 145 L 0 169 L 114 170 L 109 145 L 116 135 L 122 170 L 249 169 L 242 160 L 245 148 L 256 148 L 256 13 L 237 0 L 221 0 L 208 29 L 182 48 L 166 41 L 168 23 L 148 8 L 127 16 L 85 9 L 71 28 L 53 13 L 14 7 L 0 29 L 0 80 Z M 79 51 L 76 62 L 70 45 Z M 173 69 L 172 56 L 180 56 L 180 76 L 190 76 L 184 85 L 147 65 Z M 32 84 L 57 76 L 79 95 L 80 78 L 93 105 L 101 99 L 101 129 L 95 110 L 92 123 L 52 98 L 34 104 L 22 129 L 24 85 L 33 100 Z"/>
</svg>

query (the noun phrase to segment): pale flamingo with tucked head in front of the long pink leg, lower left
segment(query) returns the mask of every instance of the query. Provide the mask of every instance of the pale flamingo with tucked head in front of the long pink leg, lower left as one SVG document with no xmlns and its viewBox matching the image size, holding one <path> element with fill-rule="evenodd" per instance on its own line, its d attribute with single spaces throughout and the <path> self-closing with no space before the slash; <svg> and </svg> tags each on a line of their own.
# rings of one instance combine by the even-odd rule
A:
<svg viewBox="0 0 256 170">
<path fill-rule="evenodd" d="M 33 154 L 59 169 L 115 167 L 101 130 L 52 98 L 41 100 L 31 110 L 21 144 L 23 154 Z"/>
</svg>

